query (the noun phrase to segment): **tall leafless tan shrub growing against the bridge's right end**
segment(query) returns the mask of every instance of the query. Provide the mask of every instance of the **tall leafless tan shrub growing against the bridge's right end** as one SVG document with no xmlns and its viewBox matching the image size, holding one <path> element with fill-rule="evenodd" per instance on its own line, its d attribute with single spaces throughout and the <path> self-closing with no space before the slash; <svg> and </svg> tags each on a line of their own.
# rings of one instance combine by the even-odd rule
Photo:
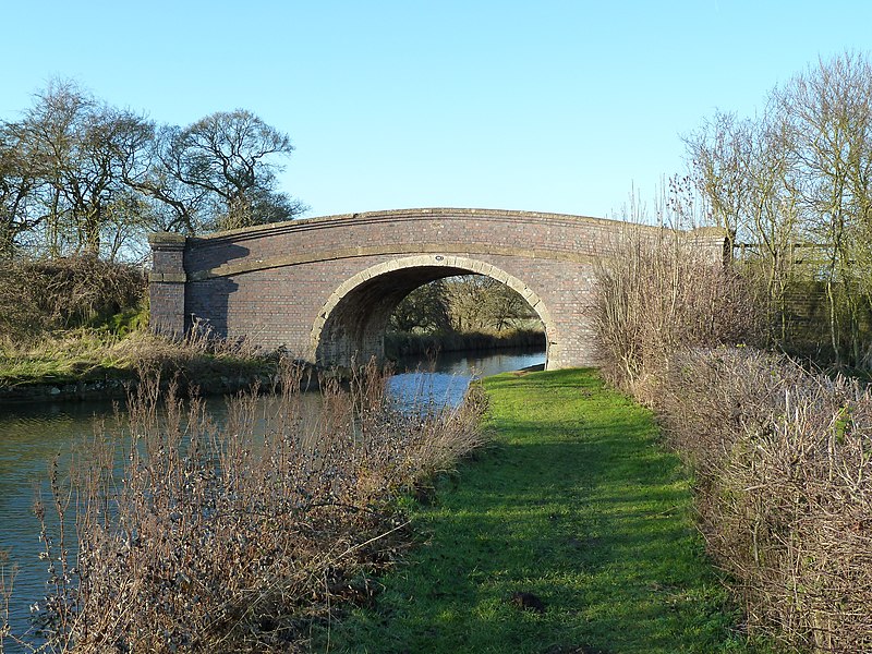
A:
<svg viewBox="0 0 872 654">
<path fill-rule="evenodd" d="M 640 400 L 656 398 L 676 350 L 756 334 L 753 287 L 681 232 L 628 227 L 614 251 L 597 268 L 601 365 L 609 382 Z"/>
</svg>

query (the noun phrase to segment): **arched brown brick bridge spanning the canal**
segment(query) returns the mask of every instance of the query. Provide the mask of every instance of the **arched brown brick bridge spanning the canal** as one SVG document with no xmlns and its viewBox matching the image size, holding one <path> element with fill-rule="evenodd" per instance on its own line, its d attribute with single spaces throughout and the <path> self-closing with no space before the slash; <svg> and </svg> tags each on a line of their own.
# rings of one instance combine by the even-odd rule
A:
<svg viewBox="0 0 872 654">
<path fill-rule="evenodd" d="M 595 365 L 595 262 L 626 223 L 531 211 L 407 209 L 293 220 L 209 237 L 155 234 L 152 325 L 195 319 L 219 336 L 287 347 L 322 365 L 384 354 L 393 308 L 415 288 L 486 275 L 518 291 L 545 325 L 547 367 Z M 653 229 L 653 228 L 649 228 Z M 694 233 L 713 255 L 724 235 Z"/>
</svg>

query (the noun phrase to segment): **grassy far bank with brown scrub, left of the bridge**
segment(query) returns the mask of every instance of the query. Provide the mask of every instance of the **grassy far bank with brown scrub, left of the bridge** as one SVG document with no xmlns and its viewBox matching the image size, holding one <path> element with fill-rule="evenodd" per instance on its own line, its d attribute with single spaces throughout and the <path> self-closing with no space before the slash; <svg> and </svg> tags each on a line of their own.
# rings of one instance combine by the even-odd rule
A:
<svg viewBox="0 0 872 654">
<path fill-rule="evenodd" d="M 202 392 L 247 387 L 276 373 L 278 358 L 245 343 L 183 340 L 148 331 L 142 269 L 89 256 L 0 262 L 0 402 L 123 397 L 143 370 L 178 373 Z"/>
</svg>

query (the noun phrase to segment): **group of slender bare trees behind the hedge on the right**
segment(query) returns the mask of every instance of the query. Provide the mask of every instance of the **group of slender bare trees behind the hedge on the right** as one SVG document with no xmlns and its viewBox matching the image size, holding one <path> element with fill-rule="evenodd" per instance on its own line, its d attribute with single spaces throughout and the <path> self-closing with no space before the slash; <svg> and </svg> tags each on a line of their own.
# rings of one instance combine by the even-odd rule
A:
<svg viewBox="0 0 872 654">
<path fill-rule="evenodd" d="M 717 225 L 764 280 L 772 341 L 789 339 L 797 282 L 823 286 L 836 363 L 872 364 L 872 66 L 820 61 L 770 95 L 760 117 L 717 113 L 687 136 Z M 803 281 L 804 280 L 804 281 Z"/>
</svg>

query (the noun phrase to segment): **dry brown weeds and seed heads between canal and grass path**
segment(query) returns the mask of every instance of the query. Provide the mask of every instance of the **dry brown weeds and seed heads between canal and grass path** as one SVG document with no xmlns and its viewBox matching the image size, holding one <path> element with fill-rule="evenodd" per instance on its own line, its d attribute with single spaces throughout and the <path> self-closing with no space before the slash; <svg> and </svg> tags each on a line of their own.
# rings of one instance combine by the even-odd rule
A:
<svg viewBox="0 0 872 654">
<path fill-rule="evenodd" d="M 78 553 L 68 562 L 63 538 L 44 534 L 51 651 L 298 651 L 404 547 L 397 494 L 481 443 L 480 401 L 399 413 L 371 364 L 348 392 L 325 380 L 310 413 L 302 368 L 280 365 L 266 409 L 257 389 L 238 395 L 221 428 L 144 375 L 123 474 L 100 434 L 69 484 L 52 480 L 56 511 L 77 511 Z"/>
</svg>

